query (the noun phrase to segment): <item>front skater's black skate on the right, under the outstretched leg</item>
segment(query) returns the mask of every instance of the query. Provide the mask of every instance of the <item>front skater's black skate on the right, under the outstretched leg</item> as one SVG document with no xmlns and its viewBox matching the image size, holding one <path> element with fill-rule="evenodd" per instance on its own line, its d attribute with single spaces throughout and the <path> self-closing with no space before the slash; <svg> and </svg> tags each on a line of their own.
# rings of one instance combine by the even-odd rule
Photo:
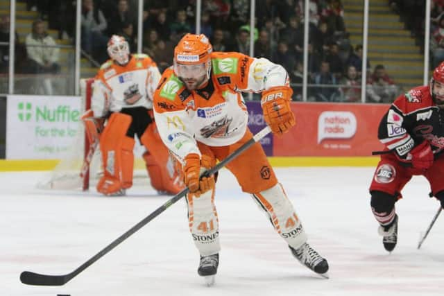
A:
<svg viewBox="0 0 444 296">
<path fill-rule="evenodd" d="M 304 243 L 298 249 L 294 249 L 291 246 L 289 247 L 291 250 L 291 254 L 293 254 L 293 256 L 295 256 L 300 263 L 307 266 L 307 268 L 313 270 L 322 277 L 328 279 L 327 260 L 319 255 L 318 252 L 316 252 L 312 247 L 310 247 L 308 243 Z"/>
</svg>

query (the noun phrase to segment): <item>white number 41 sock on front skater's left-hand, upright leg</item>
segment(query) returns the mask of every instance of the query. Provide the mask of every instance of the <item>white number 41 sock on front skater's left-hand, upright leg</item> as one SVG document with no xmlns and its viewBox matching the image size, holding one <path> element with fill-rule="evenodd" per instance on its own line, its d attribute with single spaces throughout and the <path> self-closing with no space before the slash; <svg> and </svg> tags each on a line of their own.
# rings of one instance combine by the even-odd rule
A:
<svg viewBox="0 0 444 296">
<path fill-rule="evenodd" d="M 219 218 L 214 205 L 214 189 L 196 197 L 187 195 L 189 231 L 201 256 L 210 256 L 221 250 Z"/>
</svg>

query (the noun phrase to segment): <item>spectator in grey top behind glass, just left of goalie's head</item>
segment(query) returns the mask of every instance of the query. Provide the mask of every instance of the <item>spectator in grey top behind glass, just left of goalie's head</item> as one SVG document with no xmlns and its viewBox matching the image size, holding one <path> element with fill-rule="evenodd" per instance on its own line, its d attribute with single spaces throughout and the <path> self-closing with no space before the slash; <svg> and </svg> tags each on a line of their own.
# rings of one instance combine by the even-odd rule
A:
<svg viewBox="0 0 444 296">
<path fill-rule="evenodd" d="M 99 63 L 108 59 L 106 44 L 108 37 L 105 30 L 108 27 L 105 17 L 100 9 L 94 8 L 93 0 L 83 0 L 82 3 L 82 49 Z"/>
</svg>

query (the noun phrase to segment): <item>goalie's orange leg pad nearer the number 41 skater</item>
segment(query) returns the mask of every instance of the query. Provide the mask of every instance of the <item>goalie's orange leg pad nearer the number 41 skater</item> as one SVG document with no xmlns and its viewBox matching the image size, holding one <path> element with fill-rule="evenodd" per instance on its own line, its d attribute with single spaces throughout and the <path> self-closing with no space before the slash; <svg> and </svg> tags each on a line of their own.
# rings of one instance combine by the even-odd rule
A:
<svg viewBox="0 0 444 296">
<path fill-rule="evenodd" d="M 169 194 L 177 194 L 185 189 L 180 163 L 170 155 L 167 146 L 160 139 L 155 123 L 148 125 L 140 141 L 148 150 L 143 157 L 151 186 Z"/>
</svg>

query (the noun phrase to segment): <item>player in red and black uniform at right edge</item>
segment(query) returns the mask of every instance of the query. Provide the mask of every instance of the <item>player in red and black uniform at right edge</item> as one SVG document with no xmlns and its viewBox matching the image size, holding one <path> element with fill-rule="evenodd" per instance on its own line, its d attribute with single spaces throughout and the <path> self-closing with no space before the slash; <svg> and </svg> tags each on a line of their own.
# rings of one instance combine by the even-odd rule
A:
<svg viewBox="0 0 444 296">
<path fill-rule="evenodd" d="M 382 117 L 381 155 L 370 185 L 371 208 L 388 252 L 398 241 L 395 202 L 413 175 L 424 175 L 434 197 L 444 207 L 444 62 L 433 73 L 430 85 L 415 87 L 399 96 Z"/>
</svg>

